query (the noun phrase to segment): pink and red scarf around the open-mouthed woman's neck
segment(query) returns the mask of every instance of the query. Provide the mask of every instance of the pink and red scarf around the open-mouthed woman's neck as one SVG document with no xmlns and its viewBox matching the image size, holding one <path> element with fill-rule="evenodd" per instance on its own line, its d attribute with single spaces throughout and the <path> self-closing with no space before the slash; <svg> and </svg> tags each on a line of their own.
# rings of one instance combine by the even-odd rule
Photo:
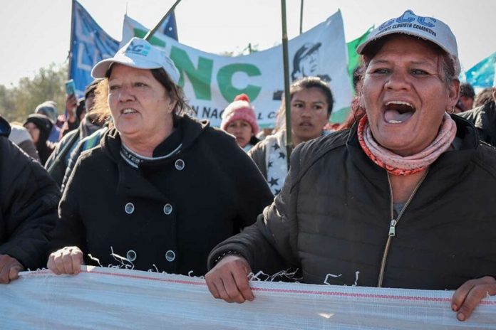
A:
<svg viewBox="0 0 496 330">
<path fill-rule="evenodd" d="M 407 176 L 425 170 L 438 159 L 440 154 L 448 150 L 455 139 L 456 124 L 450 115 L 445 113 L 438 136 L 428 147 L 410 156 L 399 156 L 382 147 L 373 139 L 367 116 L 358 123 L 358 142 L 363 151 L 378 166 L 396 176 Z"/>
</svg>

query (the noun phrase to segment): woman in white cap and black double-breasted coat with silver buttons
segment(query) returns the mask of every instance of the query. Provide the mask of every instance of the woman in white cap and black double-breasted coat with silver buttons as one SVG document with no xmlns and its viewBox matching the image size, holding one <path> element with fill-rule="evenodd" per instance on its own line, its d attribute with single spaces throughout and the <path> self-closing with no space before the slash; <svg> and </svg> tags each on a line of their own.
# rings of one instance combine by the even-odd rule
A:
<svg viewBox="0 0 496 330">
<path fill-rule="evenodd" d="M 267 183 L 234 137 L 182 115 L 180 73 L 163 50 L 132 38 L 92 75 L 103 78 L 95 108 L 115 127 L 73 169 L 48 268 L 205 275 L 208 252 L 272 202 Z"/>
</svg>

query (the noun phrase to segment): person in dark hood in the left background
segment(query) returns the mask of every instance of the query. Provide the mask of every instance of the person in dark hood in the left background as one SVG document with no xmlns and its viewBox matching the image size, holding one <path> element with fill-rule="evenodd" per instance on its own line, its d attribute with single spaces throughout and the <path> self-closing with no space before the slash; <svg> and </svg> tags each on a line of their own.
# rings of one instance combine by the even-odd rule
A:
<svg viewBox="0 0 496 330">
<path fill-rule="evenodd" d="M 41 165 L 45 164 L 53 151 L 53 144 L 48 141 L 53 128 L 53 122 L 46 115 L 36 113 L 28 116 L 26 122 L 24 122 L 24 127 L 31 134 L 36 151 L 38 151 L 38 156 L 40 157 Z"/>
</svg>

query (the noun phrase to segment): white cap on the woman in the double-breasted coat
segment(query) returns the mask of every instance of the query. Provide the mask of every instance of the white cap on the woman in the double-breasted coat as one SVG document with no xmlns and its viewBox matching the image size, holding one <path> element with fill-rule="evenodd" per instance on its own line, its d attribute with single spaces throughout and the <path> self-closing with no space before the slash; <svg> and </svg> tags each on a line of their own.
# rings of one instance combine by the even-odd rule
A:
<svg viewBox="0 0 496 330">
<path fill-rule="evenodd" d="M 177 85 L 180 78 L 179 70 L 165 55 L 165 51 L 152 46 L 148 41 L 140 38 L 132 38 L 128 43 L 120 48 L 113 58 L 106 58 L 96 63 L 91 70 L 93 78 L 105 78 L 108 68 L 113 63 L 120 63 L 138 69 L 159 69 L 165 70 L 170 80 Z"/>
</svg>

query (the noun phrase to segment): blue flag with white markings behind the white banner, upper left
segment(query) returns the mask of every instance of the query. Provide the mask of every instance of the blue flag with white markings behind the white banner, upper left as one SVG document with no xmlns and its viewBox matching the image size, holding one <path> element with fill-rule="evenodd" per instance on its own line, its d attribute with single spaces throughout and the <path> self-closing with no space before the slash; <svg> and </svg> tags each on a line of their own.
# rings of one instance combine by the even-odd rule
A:
<svg viewBox="0 0 496 330">
<path fill-rule="evenodd" d="M 71 68 L 69 75 L 76 85 L 76 94 L 82 96 L 93 78 L 93 65 L 104 58 L 111 58 L 119 49 L 119 41 L 100 28 L 78 1 L 73 0 L 71 35 Z M 177 27 L 174 13 L 167 16 L 159 31 L 177 40 Z"/>
</svg>

